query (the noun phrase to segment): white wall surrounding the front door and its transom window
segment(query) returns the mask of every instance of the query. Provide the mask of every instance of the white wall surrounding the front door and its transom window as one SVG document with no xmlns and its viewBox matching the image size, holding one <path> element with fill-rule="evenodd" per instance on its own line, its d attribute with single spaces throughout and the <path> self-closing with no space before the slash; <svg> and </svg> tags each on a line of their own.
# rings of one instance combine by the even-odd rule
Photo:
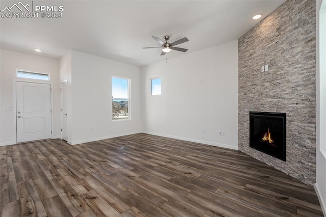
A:
<svg viewBox="0 0 326 217">
<path fill-rule="evenodd" d="M 60 85 L 59 85 L 59 61 L 44 57 L 29 55 L 26 53 L 14 52 L 1 49 L 1 107 L 0 107 L 0 145 L 11 145 L 16 143 L 15 129 L 15 102 L 14 102 L 14 79 L 16 70 L 26 70 L 33 72 L 43 72 L 50 74 L 52 86 L 53 102 L 53 128 L 52 138 L 60 135 Z M 27 79 L 25 79 L 27 80 Z M 31 79 L 28 79 L 31 81 Z M 32 79 L 35 82 L 35 79 Z M 12 106 L 12 111 L 4 111 L 4 106 Z"/>
</svg>

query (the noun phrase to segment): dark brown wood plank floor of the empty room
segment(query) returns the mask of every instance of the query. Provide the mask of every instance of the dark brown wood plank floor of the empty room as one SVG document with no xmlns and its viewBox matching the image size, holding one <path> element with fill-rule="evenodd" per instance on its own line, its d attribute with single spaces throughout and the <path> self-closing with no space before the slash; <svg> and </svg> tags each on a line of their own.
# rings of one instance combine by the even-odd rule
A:
<svg viewBox="0 0 326 217">
<path fill-rule="evenodd" d="M 1 216 L 322 216 L 314 189 L 235 150 L 134 134 L 0 147 Z"/>
</svg>

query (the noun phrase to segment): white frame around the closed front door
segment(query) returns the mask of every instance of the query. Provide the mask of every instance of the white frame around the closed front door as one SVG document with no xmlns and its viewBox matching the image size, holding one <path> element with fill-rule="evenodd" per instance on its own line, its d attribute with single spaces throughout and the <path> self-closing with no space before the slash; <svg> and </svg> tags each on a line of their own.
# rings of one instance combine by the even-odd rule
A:
<svg viewBox="0 0 326 217">
<path fill-rule="evenodd" d="M 51 100 L 51 139 L 53 139 L 53 133 L 54 133 L 54 123 L 53 123 L 53 84 L 49 80 L 36 80 L 36 79 L 29 79 L 29 78 L 15 78 L 14 79 L 14 85 L 13 85 L 13 93 L 14 93 L 14 103 L 13 103 L 13 122 L 14 122 L 14 130 L 13 132 L 15 133 L 14 135 L 14 144 L 17 144 L 17 122 L 16 122 L 16 116 L 17 116 L 17 108 L 16 108 L 16 103 L 17 103 L 17 97 L 16 97 L 16 84 L 17 82 L 26 82 L 26 83 L 36 83 L 36 84 L 46 84 L 50 85 L 51 91 L 50 91 L 50 100 Z"/>
</svg>

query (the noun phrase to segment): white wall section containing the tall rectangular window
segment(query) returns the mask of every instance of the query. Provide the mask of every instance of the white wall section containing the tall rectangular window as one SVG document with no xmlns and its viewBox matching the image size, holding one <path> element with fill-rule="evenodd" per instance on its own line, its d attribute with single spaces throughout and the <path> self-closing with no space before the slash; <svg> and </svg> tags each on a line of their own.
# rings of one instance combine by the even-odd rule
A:
<svg viewBox="0 0 326 217">
<path fill-rule="evenodd" d="M 71 51 L 70 144 L 141 132 L 140 71 L 137 66 Z M 131 120 L 112 121 L 112 76 L 131 79 Z"/>
</svg>

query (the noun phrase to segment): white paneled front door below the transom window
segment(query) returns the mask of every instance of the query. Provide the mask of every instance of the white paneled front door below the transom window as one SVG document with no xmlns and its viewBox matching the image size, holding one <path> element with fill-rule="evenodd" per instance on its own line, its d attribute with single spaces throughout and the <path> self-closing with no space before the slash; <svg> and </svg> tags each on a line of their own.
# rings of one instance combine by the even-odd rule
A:
<svg viewBox="0 0 326 217">
<path fill-rule="evenodd" d="M 16 82 L 17 143 L 51 138 L 51 85 Z"/>
</svg>

